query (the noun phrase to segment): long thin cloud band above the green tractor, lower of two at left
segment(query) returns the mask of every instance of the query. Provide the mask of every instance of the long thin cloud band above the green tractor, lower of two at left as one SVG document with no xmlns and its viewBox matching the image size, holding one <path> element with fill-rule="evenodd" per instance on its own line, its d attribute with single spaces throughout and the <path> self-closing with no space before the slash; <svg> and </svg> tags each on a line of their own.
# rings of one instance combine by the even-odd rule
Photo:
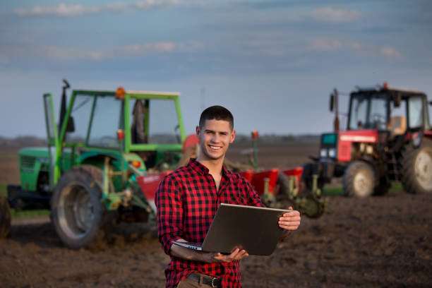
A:
<svg viewBox="0 0 432 288">
<path fill-rule="evenodd" d="M 196 52 L 203 47 L 199 42 L 189 41 L 185 43 L 176 43 L 170 41 L 151 42 L 132 44 L 124 47 L 116 47 L 112 49 L 97 49 L 88 50 L 80 48 L 66 48 L 57 46 L 47 47 L 13 47 L 4 49 L 6 54 L 0 54 L 1 59 L 9 59 L 11 56 L 30 56 L 44 57 L 47 59 L 56 59 L 63 61 L 71 60 L 89 60 L 100 61 L 107 59 L 116 59 L 128 56 L 148 56 L 154 54 L 172 54 L 177 52 Z"/>
</svg>

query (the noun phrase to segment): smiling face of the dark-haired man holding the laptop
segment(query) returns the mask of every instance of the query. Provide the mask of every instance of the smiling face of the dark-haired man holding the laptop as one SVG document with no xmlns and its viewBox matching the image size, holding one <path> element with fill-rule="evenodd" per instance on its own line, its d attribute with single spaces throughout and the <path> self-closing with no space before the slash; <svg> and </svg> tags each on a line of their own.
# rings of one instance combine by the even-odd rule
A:
<svg viewBox="0 0 432 288">
<path fill-rule="evenodd" d="M 203 127 L 196 127 L 200 139 L 200 154 L 205 160 L 223 158 L 229 144 L 234 141 L 236 131 L 231 131 L 229 122 L 224 120 L 206 120 Z"/>
</svg>

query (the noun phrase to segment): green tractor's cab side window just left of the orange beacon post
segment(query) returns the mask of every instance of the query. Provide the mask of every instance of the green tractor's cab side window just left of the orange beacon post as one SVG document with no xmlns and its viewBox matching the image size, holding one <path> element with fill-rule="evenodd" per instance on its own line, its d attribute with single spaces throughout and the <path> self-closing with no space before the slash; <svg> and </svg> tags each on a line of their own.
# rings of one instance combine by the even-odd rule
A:
<svg viewBox="0 0 432 288">
<path fill-rule="evenodd" d="M 114 95 L 96 95 L 88 145 L 102 148 L 119 148 L 117 131 L 123 128 L 123 101 Z"/>
</svg>

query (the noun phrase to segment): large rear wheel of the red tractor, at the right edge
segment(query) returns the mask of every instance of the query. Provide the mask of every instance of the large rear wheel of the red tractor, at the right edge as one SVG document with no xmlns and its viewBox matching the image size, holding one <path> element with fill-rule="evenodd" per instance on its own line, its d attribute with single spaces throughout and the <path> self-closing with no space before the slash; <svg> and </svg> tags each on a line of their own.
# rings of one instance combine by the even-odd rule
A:
<svg viewBox="0 0 432 288">
<path fill-rule="evenodd" d="M 419 148 L 407 145 L 402 152 L 402 185 L 408 193 L 432 193 L 432 140 Z"/>
</svg>

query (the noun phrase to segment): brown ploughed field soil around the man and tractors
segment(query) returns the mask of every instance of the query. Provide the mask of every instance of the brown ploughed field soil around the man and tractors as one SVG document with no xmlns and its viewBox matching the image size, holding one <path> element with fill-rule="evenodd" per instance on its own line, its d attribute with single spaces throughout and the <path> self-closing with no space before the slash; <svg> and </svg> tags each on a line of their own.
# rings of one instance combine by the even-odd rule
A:
<svg viewBox="0 0 432 288">
<path fill-rule="evenodd" d="M 244 159 L 236 155 L 242 149 L 232 147 L 230 159 Z M 296 166 L 317 149 L 317 143 L 260 145 L 259 164 Z M 327 212 L 302 217 L 271 256 L 241 261 L 243 286 L 432 287 L 431 207 L 431 195 L 395 191 L 329 196 Z M 0 240 L 0 287 L 164 287 L 169 258 L 154 229 L 122 223 L 104 249 L 73 251 L 62 246 L 48 217 L 13 220 L 11 237 Z"/>
</svg>

